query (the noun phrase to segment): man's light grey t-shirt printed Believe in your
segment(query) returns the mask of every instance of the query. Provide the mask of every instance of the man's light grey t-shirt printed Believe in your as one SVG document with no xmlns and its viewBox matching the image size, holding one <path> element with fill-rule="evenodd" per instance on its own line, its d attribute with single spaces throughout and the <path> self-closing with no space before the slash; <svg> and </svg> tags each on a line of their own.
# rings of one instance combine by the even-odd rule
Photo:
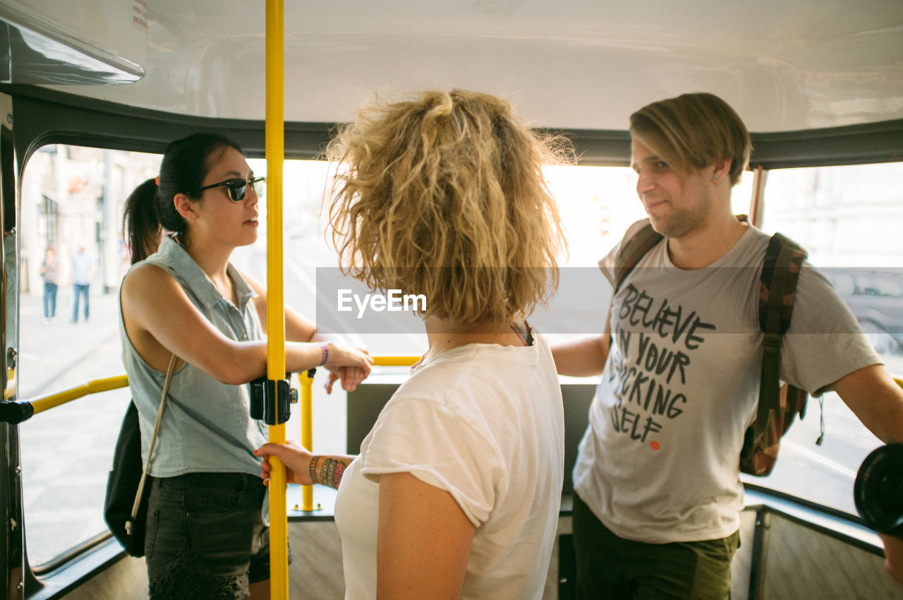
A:
<svg viewBox="0 0 903 600">
<path fill-rule="evenodd" d="M 759 400 L 759 275 L 768 239 L 750 227 L 698 270 L 675 267 L 663 241 L 615 295 L 611 350 L 573 480 L 621 538 L 719 539 L 740 526 L 739 459 Z M 600 262 L 612 283 L 613 258 L 614 251 Z M 817 394 L 876 363 L 850 310 L 804 263 L 781 341 L 781 379 Z"/>
</svg>

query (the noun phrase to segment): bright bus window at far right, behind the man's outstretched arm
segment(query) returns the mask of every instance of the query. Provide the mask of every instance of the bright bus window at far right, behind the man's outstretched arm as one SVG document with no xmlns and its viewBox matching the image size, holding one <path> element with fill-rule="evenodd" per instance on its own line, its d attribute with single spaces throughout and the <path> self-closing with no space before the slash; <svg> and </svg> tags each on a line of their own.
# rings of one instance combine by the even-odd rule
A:
<svg viewBox="0 0 903 600">
<path fill-rule="evenodd" d="M 762 229 L 781 231 L 809 252 L 869 335 L 893 375 L 903 374 L 903 163 L 784 169 L 768 173 Z M 880 440 L 835 393 L 824 395 L 824 444 L 819 403 L 781 444 L 768 479 L 781 492 L 855 514 L 852 483 Z"/>
</svg>

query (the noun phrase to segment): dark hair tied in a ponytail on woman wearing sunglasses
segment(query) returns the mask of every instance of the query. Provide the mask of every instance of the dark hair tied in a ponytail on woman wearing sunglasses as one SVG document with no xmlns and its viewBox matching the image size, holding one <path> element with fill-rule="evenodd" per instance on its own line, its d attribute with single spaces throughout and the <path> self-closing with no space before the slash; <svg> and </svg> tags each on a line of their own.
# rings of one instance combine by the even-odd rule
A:
<svg viewBox="0 0 903 600">
<path fill-rule="evenodd" d="M 132 250 L 132 264 L 154 254 L 161 228 L 178 233 L 184 243 L 188 226 L 172 200 L 177 193 L 193 200 L 200 198 L 201 183 L 217 153 L 226 148 L 242 152 L 241 146 L 219 134 L 194 134 L 166 146 L 160 176 L 136 187 L 126 199 L 123 229 Z"/>
</svg>

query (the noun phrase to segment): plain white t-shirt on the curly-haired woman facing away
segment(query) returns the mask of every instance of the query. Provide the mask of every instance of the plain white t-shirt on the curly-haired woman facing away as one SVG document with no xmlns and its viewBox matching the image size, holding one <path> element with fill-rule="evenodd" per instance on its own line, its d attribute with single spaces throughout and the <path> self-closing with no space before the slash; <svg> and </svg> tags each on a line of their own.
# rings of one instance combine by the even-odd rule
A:
<svg viewBox="0 0 903 600">
<path fill-rule="evenodd" d="M 450 492 L 477 528 L 461 598 L 542 597 L 563 471 L 561 388 L 541 335 L 529 347 L 472 343 L 417 363 L 342 477 L 346 597 L 377 595 L 382 473 Z"/>
</svg>

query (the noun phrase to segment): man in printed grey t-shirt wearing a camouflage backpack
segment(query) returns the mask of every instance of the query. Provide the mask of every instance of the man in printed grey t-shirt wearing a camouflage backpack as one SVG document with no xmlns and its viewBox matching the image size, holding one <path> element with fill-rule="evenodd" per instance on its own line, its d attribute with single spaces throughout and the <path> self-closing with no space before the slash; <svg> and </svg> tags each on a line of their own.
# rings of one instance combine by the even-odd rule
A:
<svg viewBox="0 0 903 600">
<path fill-rule="evenodd" d="M 731 214 L 751 148 L 731 107 L 684 94 L 638 110 L 630 133 L 649 218 L 600 261 L 605 332 L 553 349 L 560 374 L 602 374 L 573 471 L 578 589 L 727 598 L 741 451 L 767 471 L 801 406 L 778 408 L 778 371 L 834 389 L 885 442 L 903 440 L 903 390 L 805 253 Z"/>
</svg>

